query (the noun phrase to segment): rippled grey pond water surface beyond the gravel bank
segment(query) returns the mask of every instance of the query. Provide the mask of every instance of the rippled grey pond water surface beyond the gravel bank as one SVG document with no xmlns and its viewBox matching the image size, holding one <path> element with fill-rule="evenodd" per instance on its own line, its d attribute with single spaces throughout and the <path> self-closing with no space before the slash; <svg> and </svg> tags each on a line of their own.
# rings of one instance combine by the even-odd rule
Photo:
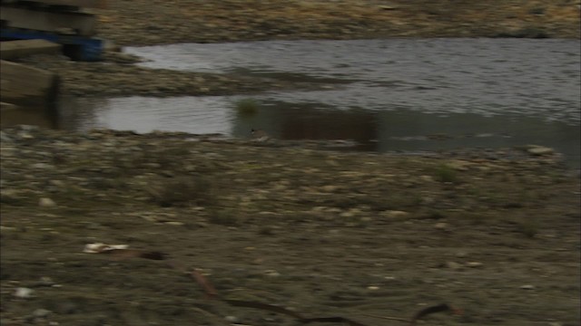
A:
<svg viewBox="0 0 581 326">
<path fill-rule="evenodd" d="M 361 149 L 418 151 L 538 144 L 580 161 L 578 40 L 427 39 L 268 41 L 126 48 L 145 67 L 236 72 L 305 82 L 326 91 L 248 96 L 125 97 L 64 101 L 67 129 L 153 129 L 248 138 L 354 139 Z M 445 134 L 444 139 L 431 139 Z"/>
</svg>

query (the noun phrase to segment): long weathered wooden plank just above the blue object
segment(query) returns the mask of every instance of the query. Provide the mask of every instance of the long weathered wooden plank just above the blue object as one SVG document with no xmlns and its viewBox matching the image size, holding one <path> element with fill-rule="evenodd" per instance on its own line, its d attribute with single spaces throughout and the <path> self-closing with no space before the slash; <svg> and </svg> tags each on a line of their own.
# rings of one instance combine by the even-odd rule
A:
<svg viewBox="0 0 581 326">
<path fill-rule="evenodd" d="M 97 19 L 94 14 L 44 12 L 3 6 L 0 19 L 5 21 L 5 27 L 82 36 L 96 34 Z"/>
</svg>

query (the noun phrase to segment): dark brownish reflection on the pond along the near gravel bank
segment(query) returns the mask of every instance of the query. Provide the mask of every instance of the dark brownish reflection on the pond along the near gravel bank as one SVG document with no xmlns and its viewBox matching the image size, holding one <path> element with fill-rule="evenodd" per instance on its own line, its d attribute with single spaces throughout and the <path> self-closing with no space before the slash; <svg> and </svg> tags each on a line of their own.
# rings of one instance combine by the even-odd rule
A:
<svg viewBox="0 0 581 326">
<path fill-rule="evenodd" d="M 231 134 L 250 137 L 252 128 L 264 129 L 276 139 L 350 139 L 359 144 L 354 149 L 379 152 L 537 144 L 565 154 L 573 168 L 581 167 L 578 126 L 515 114 L 332 110 L 320 104 L 265 101 L 256 114 L 234 120 Z"/>
</svg>

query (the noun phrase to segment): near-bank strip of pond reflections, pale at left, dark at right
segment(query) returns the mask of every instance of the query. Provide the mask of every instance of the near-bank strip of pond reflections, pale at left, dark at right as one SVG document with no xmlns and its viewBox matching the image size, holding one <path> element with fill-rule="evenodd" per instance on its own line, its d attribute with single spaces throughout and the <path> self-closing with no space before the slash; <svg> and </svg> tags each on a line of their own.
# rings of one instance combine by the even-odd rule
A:
<svg viewBox="0 0 581 326">
<path fill-rule="evenodd" d="M 581 165 L 581 130 L 565 122 L 516 114 L 429 114 L 415 110 L 336 110 L 319 103 L 259 101 L 252 114 L 241 114 L 241 97 L 175 97 L 152 99 L 69 99 L 61 123 L 67 129 L 93 128 L 222 133 L 250 139 L 263 129 L 274 139 L 345 139 L 353 149 L 379 152 L 433 151 L 460 148 L 507 148 L 526 144 L 548 146 Z"/>
</svg>

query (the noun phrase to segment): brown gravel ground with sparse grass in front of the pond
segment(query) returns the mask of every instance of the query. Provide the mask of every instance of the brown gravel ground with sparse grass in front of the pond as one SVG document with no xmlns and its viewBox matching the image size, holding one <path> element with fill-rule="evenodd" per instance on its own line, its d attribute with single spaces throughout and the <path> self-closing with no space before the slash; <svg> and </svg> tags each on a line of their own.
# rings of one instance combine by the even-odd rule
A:
<svg viewBox="0 0 581 326">
<path fill-rule="evenodd" d="M 208 299 L 183 274 L 193 268 L 222 299 L 309 317 L 397 325 L 369 314 L 448 302 L 464 313 L 425 324 L 578 325 L 579 177 L 550 150 L 0 136 L 2 325 L 296 325 Z M 167 256 L 84 254 L 90 243 Z"/>
</svg>

